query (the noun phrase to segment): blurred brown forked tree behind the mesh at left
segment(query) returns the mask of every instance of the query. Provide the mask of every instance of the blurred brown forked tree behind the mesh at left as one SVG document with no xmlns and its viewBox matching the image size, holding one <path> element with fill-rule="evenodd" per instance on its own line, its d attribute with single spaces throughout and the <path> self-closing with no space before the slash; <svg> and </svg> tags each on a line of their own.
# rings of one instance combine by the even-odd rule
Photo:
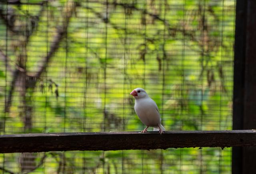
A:
<svg viewBox="0 0 256 174">
<path fill-rule="evenodd" d="M 9 72 L 12 72 L 12 82 L 10 83 L 10 88 L 7 96 L 7 102 L 5 105 L 5 112 L 10 111 L 10 107 L 12 105 L 12 96 L 15 91 L 15 88 L 17 86 L 20 86 L 19 93 L 21 97 L 21 105 L 22 105 L 22 111 L 20 112 L 23 122 L 24 130 L 29 130 L 33 127 L 32 125 L 32 111 L 33 111 L 33 102 L 32 102 L 32 95 L 34 92 L 34 88 L 36 86 L 36 82 L 40 79 L 41 74 L 44 72 L 44 70 L 47 68 L 48 63 L 54 56 L 54 53 L 58 50 L 60 43 L 64 36 L 67 33 L 67 27 L 70 22 L 70 18 L 72 14 L 76 10 L 76 3 L 73 0 L 69 0 L 62 9 L 62 14 L 64 16 L 62 17 L 62 21 L 60 25 L 57 25 L 56 27 L 56 33 L 54 36 L 52 44 L 50 45 L 50 50 L 47 53 L 45 57 L 42 56 L 42 59 L 39 60 L 42 62 L 42 65 L 38 67 L 36 70 L 36 73 L 32 74 L 26 70 L 26 60 L 27 60 L 27 45 L 30 43 L 30 37 L 34 34 L 35 31 L 38 30 L 38 23 L 43 15 L 44 9 L 44 3 L 47 1 L 43 1 L 40 4 L 40 10 L 36 16 L 30 16 L 30 14 L 26 13 L 25 18 L 26 22 L 22 23 L 22 27 L 16 27 L 15 26 L 15 10 L 19 10 L 12 8 L 13 5 L 21 5 L 21 2 L 19 0 L 17 1 L 8 1 L 6 4 L 10 3 L 11 5 L 6 6 L 6 14 L 4 14 L 4 10 L 0 9 L 0 18 L 2 21 L 4 21 L 4 24 L 6 25 L 8 31 L 10 31 L 10 35 L 17 36 L 19 38 L 18 42 L 12 43 L 12 51 L 13 53 L 16 53 L 16 61 L 14 63 L 14 66 L 10 66 L 10 59 L 7 55 L 4 54 L 4 51 L 0 49 L 0 60 L 4 62 L 4 65 L 6 66 L 7 70 Z M 26 5 L 35 5 L 35 4 L 26 4 Z M 22 22 L 22 21 L 21 21 Z M 8 32 L 6 31 L 6 32 Z M 8 34 L 9 35 L 9 34 Z M 8 50 L 9 51 L 9 50 Z M 56 85 L 56 84 L 55 84 Z M 56 86 L 57 87 L 57 86 Z M 58 90 L 55 90 L 56 96 L 58 96 Z M 29 157 L 28 157 L 29 156 Z M 34 160 L 36 159 L 36 155 L 32 153 L 28 153 L 27 155 L 20 155 L 20 164 L 21 165 L 21 171 L 25 173 L 29 173 L 31 171 L 36 170 L 40 165 L 43 164 L 44 159 L 46 156 L 42 157 L 39 164 L 36 165 Z M 33 164 L 32 170 L 28 168 L 28 163 Z M 31 165 L 30 165 L 31 166 Z M 6 172 L 10 172 L 5 169 Z"/>
</svg>

